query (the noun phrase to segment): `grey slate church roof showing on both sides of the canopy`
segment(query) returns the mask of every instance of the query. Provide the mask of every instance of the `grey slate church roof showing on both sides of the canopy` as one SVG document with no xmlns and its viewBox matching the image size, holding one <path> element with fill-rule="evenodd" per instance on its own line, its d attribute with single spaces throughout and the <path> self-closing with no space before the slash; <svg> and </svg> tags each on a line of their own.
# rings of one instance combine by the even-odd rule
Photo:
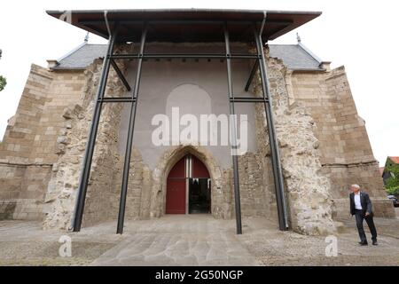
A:
<svg viewBox="0 0 399 284">
<path fill-rule="evenodd" d="M 323 70 L 320 60 L 301 44 L 269 44 L 270 56 L 282 59 L 286 67 L 292 70 Z M 94 59 L 104 57 L 106 44 L 82 43 L 74 51 L 59 59 L 59 65 L 53 69 L 84 69 Z"/>
</svg>

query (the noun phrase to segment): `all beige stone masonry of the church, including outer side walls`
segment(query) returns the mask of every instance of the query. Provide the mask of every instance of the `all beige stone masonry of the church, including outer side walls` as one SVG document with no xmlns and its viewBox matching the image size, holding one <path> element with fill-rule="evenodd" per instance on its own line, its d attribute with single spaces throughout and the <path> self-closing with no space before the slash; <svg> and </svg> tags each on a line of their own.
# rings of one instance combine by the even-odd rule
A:
<svg viewBox="0 0 399 284">
<path fill-rule="evenodd" d="M 118 46 L 119 52 L 128 50 L 129 46 Z M 284 59 L 272 57 L 268 50 L 266 53 L 293 230 L 310 235 L 336 232 L 336 221 L 348 217 L 348 185 L 354 183 L 370 193 L 376 216 L 395 217 L 344 68 L 293 70 Z M 183 63 L 164 64 L 172 68 Z M 43 228 L 69 227 L 101 67 L 102 59 L 94 59 L 84 69 L 32 66 L 20 105 L 0 144 L 0 219 L 41 220 Z M 129 75 L 128 60 L 121 61 L 120 67 Z M 158 90 L 156 85 L 153 89 Z M 251 93 L 261 96 L 261 90 L 256 75 Z M 125 94 L 111 69 L 106 96 Z M 227 100 L 225 103 L 227 106 Z M 117 217 L 124 159 L 123 107 L 121 103 L 103 106 L 83 226 Z M 263 106 L 256 104 L 251 138 L 255 146 L 239 156 L 241 206 L 243 217 L 264 217 L 277 224 L 266 131 Z M 184 154 L 196 155 L 207 166 L 212 181 L 212 216 L 234 217 L 232 168 L 223 165 L 207 146 L 169 146 L 152 164 L 145 151 L 134 145 L 127 219 L 165 214 L 168 171 Z"/>
</svg>

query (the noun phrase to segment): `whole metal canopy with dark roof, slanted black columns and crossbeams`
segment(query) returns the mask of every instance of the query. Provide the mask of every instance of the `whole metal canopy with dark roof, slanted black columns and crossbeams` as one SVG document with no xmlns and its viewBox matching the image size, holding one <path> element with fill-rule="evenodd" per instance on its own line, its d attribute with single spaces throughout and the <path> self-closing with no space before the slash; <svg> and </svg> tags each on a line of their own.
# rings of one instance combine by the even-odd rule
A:
<svg viewBox="0 0 399 284">
<path fill-rule="evenodd" d="M 66 20 L 72 25 L 83 28 L 98 36 L 108 38 L 108 47 L 104 58 L 103 69 L 99 78 L 97 99 L 91 122 L 87 146 L 82 162 L 82 172 L 79 181 L 78 194 L 74 209 L 72 228 L 79 232 L 82 227 L 82 216 L 89 184 L 90 167 L 98 132 L 98 123 L 101 108 L 104 103 L 130 103 L 129 130 L 125 161 L 123 166 L 121 200 L 118 215 L 117 233 L 123 233 L 123 224 L 126 207 L 126 197 L 129 183 L 130 155 L 133 144 L 137 100 L 141 70 L 145 59 L 223 59 L 226 60 L 227 71 L 227 99 L 230 105 L 230 114 L 235 114 L 235 103 L 262 103 L 265 109 L 267 128 L 270 140 L 270 156 L 275 182 L 276 200 L 278 208 L 278 225 L 280 230 L 288 230 L 286 197 L 284 180 L 278 152 L 278 141 L 271 110 L 270 86 L 267 75 L 267 65 L 263 53 L 263 45 L 268 40 L 284 35 L 286 32 L 298 28 L 302 24 L 317 18 L 321 12 L 278 12 L 278 11 L 238 11 L 238 10 L 121 10 L 121 11 L 49 11 L 53 17 Z M 219 28 L 219 29 L 218 29 Z M 221 32 L 219 32 L 221 31 Z M 127 41 L 139 43 L 135 54 L 115 54 L 115 43 Z M 224 42 L 223 53 L 145 53 L 145 43 L 148 42 Z M 256 54 L 231 53 L 231 42 L 254 43 Z M 136 59 L 136 79 L 131 88 L 115 60 Z M 257 70 L 262 81 L 262 97 L 235 97 L 231 75 L 232 59 L 254 60 L 245 86 L 247 91 Z M 121 78 L 128 91 L 129 97 L 106 98 L 106 81 L 110 67 L 113 66 L 116 74 Z M 237 150 L 237 125 L 231 124 L 231 150 Z M 234 173 L 234 197 L 237 233 L 242 233 L 241 209 L 239 197 L 239 161 L 237 154 L 232 154 Z"/>
</svg>

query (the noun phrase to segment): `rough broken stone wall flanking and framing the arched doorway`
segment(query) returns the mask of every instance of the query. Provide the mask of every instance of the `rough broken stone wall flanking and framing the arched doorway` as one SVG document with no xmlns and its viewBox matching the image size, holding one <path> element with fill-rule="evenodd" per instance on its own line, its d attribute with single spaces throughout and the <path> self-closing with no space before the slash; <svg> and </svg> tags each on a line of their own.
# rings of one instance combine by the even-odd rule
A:
<svg viewBox="0 0 399 284">
<path fill-rule="evenodd" d="M 313 122 L 309 114 L 304 113 L 300 107 L 289 109 L 284 81 L 286 69 L 281 62 L 270 59 L 269 68 L 279 143 L 287 149 L 283 151 L 282 162 L 293 228 L 298 232 L 309 234 L 330 232 L 333 230 L 333 223 L 330 219 L 331 204 L 328 202 L 329 185 L 325 182 L 325 177 L 318 172 L 320 167 L 318 150 L 315 146 L 317 139 L 313 135 Z M 44 227 L 65 229 L 70 222 L 87 130 L 90 127 L 92 99 L 98 82 L 98 73 L 99 62 L 95 62 L 85 72 L 87 83 L 83 91 L 82 106 L 69 106 L 64 110 L 65 122 L 59 131 L 56 146 L 59 160 L 53 166 L 45 200 L 44 211 L 47 217 Z M 121 95 L 121 86 L 118 83 L 118 79 L 115 81 L 115 75 L 111 73 L 107 95 Z M 259 90 L 255 90 L 255 93 L 259 93 Z M 247 153 L 239 157 L 242 214 L 244 217 L 261 216 L 277 221 L 264 110 L 262 106 L 258 106 L 256 106 L 258 118 L 256 127 L 260 150 L 258 153 Z M 98 130 L 98 144 L 90 172 L 90 185 L 83 217 L 84 225 L 94 225 L 115 219 L 117 216 L 123 164 L 123 156 L 116 150 L 118 139 L 116 130 L 120 123 L 120 113 L 120 104 L 108 105 L 103 110 Z M 306 138 L 304 144 L 301 144 L 301 138 Z M 301 150 L 294 152 L 296 147 Z M 176 146 L 170 147 L 165 154 L 160 156 L 158 166 L 153 171 L 145 165 L 137 149 L 134 149 L 129 174 L 127 219 L 160 217 L 164 214 L 168 170 L 177 161 L 176 159 L 186 153 L 197 155 L 208 167 L 212 177 L 213 216 L 234 217 L 232 170 L 221 169 L 212 154 L 200 146 Z M 302 167 L 303 164 L 309 165 L 307 172 L 299 170 L 298 165 Z M 301 182 L 298 184 L 297 180 L 301 174 L 307 174 L 307 176 L 300 179 Z M 312 175 L 314 175 L 313 179 Z M 305 191 L 302 190 L 302 185 L 306 185 Z M 310 202 L 311 198 L 315 201 Z"/>
</svg>

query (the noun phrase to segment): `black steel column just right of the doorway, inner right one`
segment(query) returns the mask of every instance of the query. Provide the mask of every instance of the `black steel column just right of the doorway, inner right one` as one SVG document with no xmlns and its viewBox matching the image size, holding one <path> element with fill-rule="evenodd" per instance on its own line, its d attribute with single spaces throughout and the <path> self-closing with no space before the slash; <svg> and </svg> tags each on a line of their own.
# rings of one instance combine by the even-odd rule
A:
<svg viewBox="0 0 399 284">
<path fill-rule="evenodd" d="M 229 103 L 230 103 L 230 114 L 235 114 L 234 109 L 234 93 L 232 88 L 232 79 L 231 79 L 231 51 L 230 51 L 230 40 L 229 40 L 229 31 L 227 30 L 226 24 L 224 24 L 224 41 L 226 44 L 226 62 L 227 62 L 227 86 L 229 91 Z M 234 172 L 234 201 L 235 201 L 235 209 L 236 209 L 236 225 L 237 225 L 237 234 L 242 233 L 242 225 L 241 225 L 241 201 L 239 198 L 239 158 L 237 156 L 237 124 L 236 119 L 230 120 L 230 131 L 231 131 L 231 157 L 233 163 L 233 172 Z"/>
</svg>

